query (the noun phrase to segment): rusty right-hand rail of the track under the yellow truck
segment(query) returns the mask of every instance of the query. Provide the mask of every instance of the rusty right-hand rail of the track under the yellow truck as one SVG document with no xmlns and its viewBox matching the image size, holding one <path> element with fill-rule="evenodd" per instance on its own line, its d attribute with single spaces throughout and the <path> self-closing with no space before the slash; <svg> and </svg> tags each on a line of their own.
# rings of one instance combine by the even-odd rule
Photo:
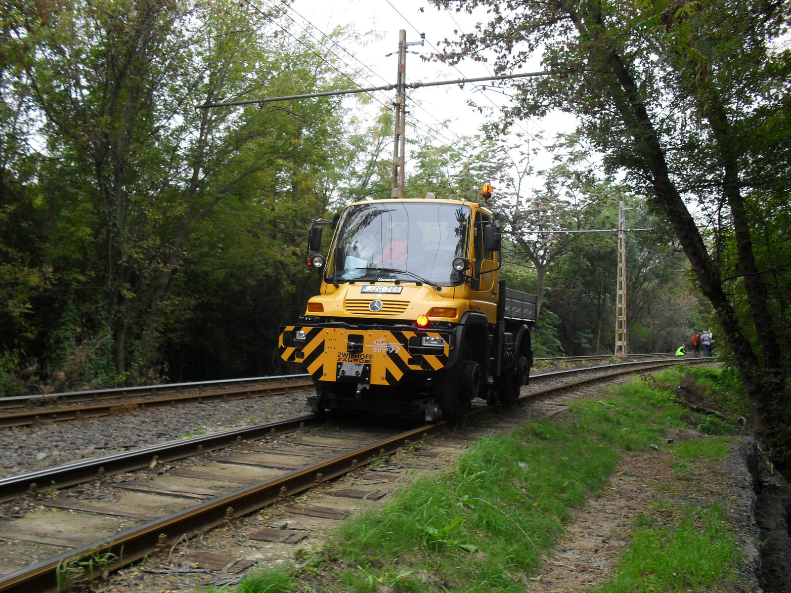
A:
<svg viewBox="0 0 791 593">
<path fill-rule="evenodd" d="M 696 359 L 695 361 L 684 362 L 700 364 L 710 362 L 710 360 Z M 522 395 L 519 399 L 536 398 L 540 395 L 562 391 L 584 383 L 607 380 L 613 376 L 620 376 L 642 370 L 651 370 L 653 368 L 663 368 L 674 364 L 679 364 L 679 361 L 663 361 L 649 367 L 619 370 L 607 373 L 603 376 L 592 377 L 575 383 L 567 383 L 542 391 L 535 391 L 530 394 Z M 485 408 L 474 410 L 467 415 L 481 414 L 500 406 L 502 406 L 502 404 L 499 403 L 494 406 L 486 406 Z M 258 429 L 259 434 L 263 436 L 268 433 L 267 428 L 275 428 L 275 430 L 278 428 L 284 429 L 286 424 L 293 426 L 297 422 L 303 421 L 319 421 L 319 417 L 311 415 L 293 418 L 290 421 L 270 422 L 265 425 L 256 425 L 255 427 L 248 428 Z M 75 550 L 69 550 L 49 560 L 41 561 L 36 565 L 21 568 L 16 572 L 0 577 L 0 591 L 8 593 L 28 593 L 28 591 L 41 591 L 45 593 L 46 591 L 57 591 L 59 568 L 68 562 L 78 561 L 89 554 L 113 554 L 117 560 L 112 561 L 105 567 L 109 572 L 117 570 L 124 565 L 131 564 L 134 561 L 138 561 L 151 553 L 165 554 L 166 550 L 171 546 L 171 542 L 176 542 L 178 539 L 184 537 L 189 538 L 207 531 L 212 527 L 218 527 L 223 523 L 233 525 L 233 520 L 240 516 L 248 515 L 249 513 L 259 510 L 259 508 L 274 504 L 278 500 L 287 500 L 287 497 L 301 493 L 314 486 L 321 487 L 327 480 L 338 478 L 355 468 L 365 466 L 376 459 L 381 459 L 384 455 L 391 455 L 399 448 L 407 446 L 411 440 L 422 440 L 426 438 L 426 436 L 439 432 L 445 425 L 448 425 L 448 421 L 441 421 L 434 425 L 424 425 L 418 429 L 411 429 L 388 439 L 379 440 L 376 443 L 338 455 L 334 458 L 313 463 L 300 470 L 294 470 L 282 476 L 240 489 L 237 492 L 208 500 L 203 504 L 184 509 L 173 515 L 155 519 L 142 526 L 132 527 L 112 537 L 100 539 L 93 544 L 81 546 Z M 231 433 L 236 431 L 226 432 Z M 195 437 L 189 440 L 189 444 L 196 444 L 195 441 L 204 438 L 206 437 Z M 146 448 L 146 454 L 144 455 L 146 459 L 152 449 L 153 448 Z M 176 457 L 168 457 L 168 459 L 176 459 Z M 79 464 L 72 465 L 76 466 Z"/>
</svg>

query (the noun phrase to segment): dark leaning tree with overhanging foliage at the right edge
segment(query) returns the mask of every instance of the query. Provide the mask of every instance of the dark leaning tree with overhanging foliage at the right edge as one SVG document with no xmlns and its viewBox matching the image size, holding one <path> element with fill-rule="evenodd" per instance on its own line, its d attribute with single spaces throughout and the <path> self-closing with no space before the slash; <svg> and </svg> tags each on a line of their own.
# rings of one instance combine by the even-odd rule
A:
<svg viewBox="0 0 791 593">
<path fill-rule="evenodd" d="M 509 72 L 540 55 L 554 75 L 520 84 L 509 118 L 577 115 L 607 170 L 649 196 L 716 312 L 755 428 L 791 463 L 788 3 L 458 5 L 479 7 L 488 21 L 448 42 L 455 54 L 442 57 L 483 59 L 479 50 L 490 48 L 497 70 Z"/>
</svg>

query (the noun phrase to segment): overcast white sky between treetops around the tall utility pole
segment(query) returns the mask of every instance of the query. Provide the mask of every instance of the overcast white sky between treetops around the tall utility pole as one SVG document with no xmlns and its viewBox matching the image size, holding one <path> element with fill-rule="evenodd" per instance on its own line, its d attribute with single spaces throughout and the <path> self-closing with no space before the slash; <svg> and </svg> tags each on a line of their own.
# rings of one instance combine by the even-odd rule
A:
<svg viewBox="0 0 791 593">
<path fill-rule="evenodd" d="M 271 0 L 273 3 L 278 0 Z M 423 8 L 423 12 L 420 8 Z M 340 64 L 347 73 L 363 69 L 355 77 L 361 86 L 380 86 L 395 83 L 396 55 L 390 55 L 398 48 L 399 29 L 407 31 L 407 42 L 420 40 L 420 33 L 426 33 L 426 45 L 409 47 L 422 55 L 430 55 L 439 42 L 446 37 L 454 38 L 454 30 L 471 32 L 475 22 L 485 21 L 486 14 L 467 15 L 456 13 L 452 9 L 437 10 L 426 0 L 295 0 L 289 16 L 284 23 L 293 18 L 293 32 L 301 32 L 301 27 L 312 35 L 320 36 L 319 31 L 328 33 L 336 26 L 351 28 L 361 34 L 361 40 L 346 38 L 338 45 L 331 46 L 336 55 L 348 66 Z M 315 27 L 315 28 L 314 28 Z M 318 29 L 318 30 L 317 30 Z M 364 67 L 362 66 L 365 64 Z M 542 70 L 538 61 L 528 64 L 525 71 Z M 454 80 L 464 77 L 482 77 L 492 73 L 491 64 L 465 61 L 454 68 L 440 62 L 425 62 L 419 55 L 407 54 L 407 82 Z M 407 124 L 417 125 L 424 134 L 430 133 L 437 137 L 438 142 L 447 143 L 459 136 L 475 134 L 479 131 L 485 116 L 479 114 L 468 104 L 475 100 L 483 107 L 494 108 L 509 101 L 507 83 L 501 85 L 502 92 L 480 86 L 465 85 L 460 89 L 457 85 L 412 89 L 407 94 Z M 375 93 L 378 101 L 392 103 L 394 91 Z M 380 103 L 374 102 L 370 116 L 375 116 L 375 108 Z M 558 131 L 571 131 L 574 121 L 568 115 L 554 115 L 541 121 L 528 120 L 517 124 L 516 130 L 527 133 L 531 144 L 535 146 L 549 145 Z M 429 132 L 431 130 L 431 132 Z M 410 128 L 407 127 L 407 134 Z M 414 132 L 413 132 L 414 133 Z M 543 134 L 543 139 L 535 139 L 536 134 Z M 546 166 L 549 163 L 539 159 L 536 164 Z M 410 167 L 407 163 L 407 172 Z"/>
</svg>

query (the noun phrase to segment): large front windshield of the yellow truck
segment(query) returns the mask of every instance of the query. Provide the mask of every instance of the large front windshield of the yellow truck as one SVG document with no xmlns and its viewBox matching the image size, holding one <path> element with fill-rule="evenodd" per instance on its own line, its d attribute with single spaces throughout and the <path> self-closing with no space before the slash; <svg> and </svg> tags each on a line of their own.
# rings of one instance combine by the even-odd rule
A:
<svg viewBox="0 0 791 593">
<path fill-rule="evenodd" d="M 466 255 L 469 220 L 468 206 L 443 202 L 370 202 L 349 206 L 330 254 L 327 280 L 399 279 L 459 284 L 462 278 L 454 273 L 451 263 Z"/>
</svg>

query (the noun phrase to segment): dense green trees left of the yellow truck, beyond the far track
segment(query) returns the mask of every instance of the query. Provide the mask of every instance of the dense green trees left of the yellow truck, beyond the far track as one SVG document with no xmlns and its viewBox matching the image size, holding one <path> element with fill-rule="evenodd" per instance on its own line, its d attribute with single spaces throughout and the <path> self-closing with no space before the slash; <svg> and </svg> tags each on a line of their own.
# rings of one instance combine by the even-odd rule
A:
<svg viewBox="0 0 791 593">
<path fill-rule="evenodd" d="M 292 278 L 297 245 L 350 161 L 343 111 L 197 106 L 345 81 L 254 4 L 5 10 L 6 373 L 57 389 L 270 371 L 315 280 Z"/>
</svg>

